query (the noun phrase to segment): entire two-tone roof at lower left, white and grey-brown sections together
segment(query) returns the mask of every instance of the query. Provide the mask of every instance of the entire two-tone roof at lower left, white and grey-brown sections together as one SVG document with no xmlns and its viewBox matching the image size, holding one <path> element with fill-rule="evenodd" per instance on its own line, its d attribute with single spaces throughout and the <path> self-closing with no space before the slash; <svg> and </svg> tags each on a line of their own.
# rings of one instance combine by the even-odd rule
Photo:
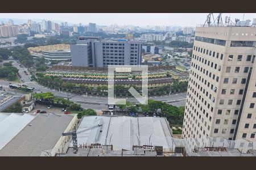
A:
<svg viewBox="0 0 256 170">
<path fill-rule="evenodd" d="M 69 114 L 0 113 L 0 156 L 40 156 L 51 151 L 67 129 Z"/>
</svg>

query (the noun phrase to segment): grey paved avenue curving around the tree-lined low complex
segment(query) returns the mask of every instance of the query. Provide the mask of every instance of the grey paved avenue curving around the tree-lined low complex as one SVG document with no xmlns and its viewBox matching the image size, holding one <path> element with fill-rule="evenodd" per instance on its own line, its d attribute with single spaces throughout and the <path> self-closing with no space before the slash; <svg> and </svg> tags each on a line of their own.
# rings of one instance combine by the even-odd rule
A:
<svg viewBox="0 0 256 170">
<path fill-rule="evenodd" d="M 97 97 L 97 96 L 85 96 L 85 95 L 77 95 L 77 94 L 71 94 L 68 92 L 62 92 L 62 91 L 57 91 L 57 90 L 51 90 L 47 87 L 43 87 L 40 84 L 36 82 L 31 82 L 30 81 L 30 74 L 26 75 L 24 74 L 24 70 L 27 71 L 26 68 L 24 67 L 19 67 L 18 63 L 14 61 L 13 65 L 19 69 L 20 75 L 22 75 L 22 79 L 24 80 L 24 83 L 18 83 L 18 84 L 27 84 L 27 86 L 34 87 L 34 88 L 39 88 L 40 91 L 38 92 L 52 92 L 55 96 L 58 97 L 64 97 L 68 98 L 71 101 L 74 101 L 76 103 L 81 104 L 82 107 L 84 108 L 92 108 L 96 109 L 97 111 L 100 111 L 102 109 L 106 109 L 108 105 L 108 97 Z M 27 71 L 28 73 L 28 71 Z M 9 88 L 9 82 L 7 81 L 0 81 L 0 84 L 3 85 L 4 88 Z M 175 105 L 177 107 L 184 106 L 185 105 L 185 97 L 186 93 L 180 93 L 180 94 L 171 94 L 171 95 L 163 95 L 163 96 L 154 96 L 154 97 L 149 97 L 149 99 L 153 100 L 158 100 L 158 101 L 164 101 L 166 103 Z M 127 99 L 127 98 L 126 98 Z M 137 102 L 136 99 L 134 98 L 129 98 L 127 99 L 128 101 L 133 101 Z"/>
</svg>

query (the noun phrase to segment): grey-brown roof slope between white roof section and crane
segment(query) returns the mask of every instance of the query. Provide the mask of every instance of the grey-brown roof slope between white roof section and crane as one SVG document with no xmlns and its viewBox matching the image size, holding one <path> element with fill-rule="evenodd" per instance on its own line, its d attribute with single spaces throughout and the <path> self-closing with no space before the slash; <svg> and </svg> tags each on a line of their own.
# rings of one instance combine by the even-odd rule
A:
<svg viewBox="0 0 256 170">
<path fill-rule="evenodd" d="M 5 147 L 0 156 L 40 156 L 52 150 L 73 116 L 69 114 L 38 114 Z"/>
</svg>

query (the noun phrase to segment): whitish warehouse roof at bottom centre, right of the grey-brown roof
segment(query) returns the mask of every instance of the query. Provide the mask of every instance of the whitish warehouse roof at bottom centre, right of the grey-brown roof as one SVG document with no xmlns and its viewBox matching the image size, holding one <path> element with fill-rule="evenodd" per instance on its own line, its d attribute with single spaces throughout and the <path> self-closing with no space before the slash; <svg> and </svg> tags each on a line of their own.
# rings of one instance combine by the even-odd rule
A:
<svg viewBox="0 0 256 170">
<path fill-rule="evenodd" d="M 100 120 L 102 126 L 77 134 L 78 146 L 100 143 L 113 145 L 113 150 L 132 150 L 134 145 L 172 148 L 170 127 L 164 117 L 85 116 L 77 131 L 95 126 Z"/>
</svg>

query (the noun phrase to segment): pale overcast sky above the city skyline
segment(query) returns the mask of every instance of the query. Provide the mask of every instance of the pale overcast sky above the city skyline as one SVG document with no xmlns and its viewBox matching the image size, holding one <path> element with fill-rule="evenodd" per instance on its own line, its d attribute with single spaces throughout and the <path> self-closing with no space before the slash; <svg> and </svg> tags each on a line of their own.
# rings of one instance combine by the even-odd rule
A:
<svg viewBox="0 0 256 170">
<path fill-rule="evenodd" d="M 2 13 L 0 18 L 14 18 L 14 19 L 47 19 L 55 21 L 64 21 L 72 24 L 88 24 L 89 22 L 96 23 L 97 25 L 111 25 L 111 24 L 132 24 L 138 26 L 146 25 L 176 25 L 176 26 L 192 26 L 195 27 L 197 24 L 203 24 L 208 14 L 203 13 L 175 13 L 175 14 L 164 14 L 164 13 L 88 13 L 88 14 L 72 14 L 72 13 Z M 217 16 L 218 14 L 214 14 Z M 243 14 L 231 13 L 231 14 L 222 14 L 222 19 L 225 19 L 225 16 L 230 16 L 230 19 L 234 21 L 235 18 L 243 18 Z M 256 13 L 245 14 L 245 19 L 253 20 L 256 18 Z"/>
</svg>

